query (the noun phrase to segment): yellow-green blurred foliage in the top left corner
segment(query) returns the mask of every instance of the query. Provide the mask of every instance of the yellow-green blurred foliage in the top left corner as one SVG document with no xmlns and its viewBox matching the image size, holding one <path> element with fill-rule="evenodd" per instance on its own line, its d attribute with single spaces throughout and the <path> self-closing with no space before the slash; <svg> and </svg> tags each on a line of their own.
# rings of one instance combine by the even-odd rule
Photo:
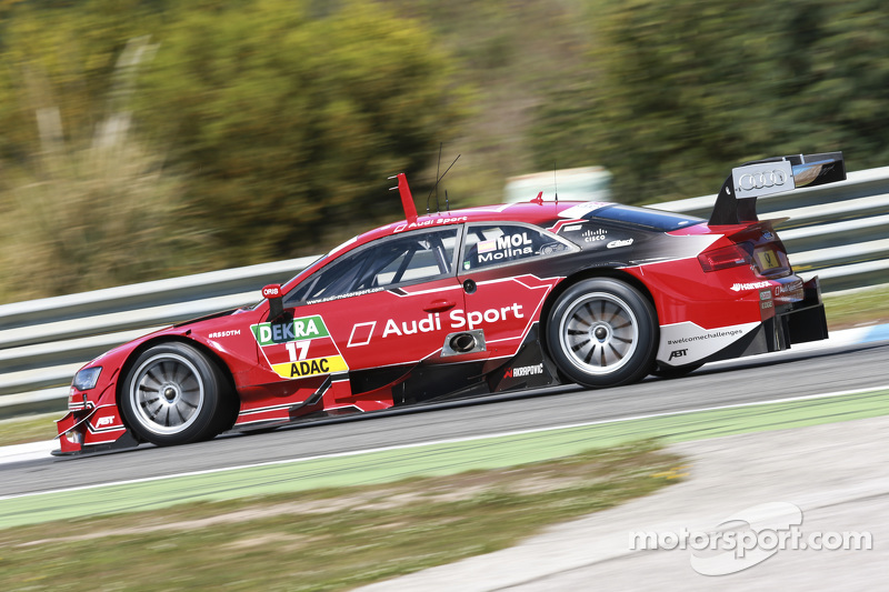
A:
<svg viewBox="0 0 889 592">
<path fill-rule="evenodd" d="M 66 138 L 91 141 L 110 107 L 120 53 L 157 30 L 157 12 L 140 0 L 10 4 L 0 37 L 0 157 L 26 164 L 40 151 L 34 113 L 58 108 Z"/>
</svg>

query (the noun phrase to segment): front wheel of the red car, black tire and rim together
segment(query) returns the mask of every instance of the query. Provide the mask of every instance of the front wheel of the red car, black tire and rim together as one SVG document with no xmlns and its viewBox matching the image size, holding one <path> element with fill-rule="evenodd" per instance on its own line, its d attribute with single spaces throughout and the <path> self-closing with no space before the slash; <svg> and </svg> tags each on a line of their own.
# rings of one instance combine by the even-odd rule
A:
<svg viewBox="0 0 889 592">
<path fill-rule="evenodd" d="M 220 368 L 179 342 L 143 351 L 120 391 L 127 427 L 159 446 L 209 440 L 231 423 L 233 397 Z"/>
</svg>

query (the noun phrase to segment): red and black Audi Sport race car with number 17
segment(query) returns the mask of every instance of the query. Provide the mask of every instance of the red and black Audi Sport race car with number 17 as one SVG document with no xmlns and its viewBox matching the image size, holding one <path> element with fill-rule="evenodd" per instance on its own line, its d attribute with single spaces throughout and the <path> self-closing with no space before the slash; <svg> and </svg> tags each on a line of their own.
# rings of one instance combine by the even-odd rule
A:
<svg viewBox="0 0 889 592">
<path fill-rule="evenodd" d="M 253 307 L 83 367 L 59 454 L 184 444 L 308 418 L 681 374 L 827 338 L 756 198 L 840 181 L 840 152 L 732 170 L 709 221 L 543 201 L 418 215 L 333 249 Z"/>
</svg>

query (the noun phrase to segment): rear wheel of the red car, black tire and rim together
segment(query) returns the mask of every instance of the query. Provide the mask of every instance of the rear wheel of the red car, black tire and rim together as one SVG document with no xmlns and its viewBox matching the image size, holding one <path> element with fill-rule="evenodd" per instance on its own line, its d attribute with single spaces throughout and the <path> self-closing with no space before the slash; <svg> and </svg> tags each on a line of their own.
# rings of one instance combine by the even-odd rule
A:
<svg viewBox="0 0 889 592">
<path fill-rule="evenodd" d="M 651 302 L 619 280 L 582 280 L 562 293 L 547 322 L 547 347 L 559 370 L 588 388 L 646 377 L 658 344 Z"/>
</svg>

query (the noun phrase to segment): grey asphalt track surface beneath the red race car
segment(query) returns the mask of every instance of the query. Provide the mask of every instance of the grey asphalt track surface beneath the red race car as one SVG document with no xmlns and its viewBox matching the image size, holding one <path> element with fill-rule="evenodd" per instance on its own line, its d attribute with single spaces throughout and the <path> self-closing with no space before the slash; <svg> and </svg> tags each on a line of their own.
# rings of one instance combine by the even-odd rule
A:
<svg viewBox="0 0 889 592">
<path fill-rule="evenodd" d="M 889 343 L 843 344 L 709 364 L 682 378 L 588 391 L 561 387 L 327 420 L 187 446 L 0 465 L 0 496 L 889 384 Z M 86 493 L 84 495 L 88 495 Z"/>
</svg>

